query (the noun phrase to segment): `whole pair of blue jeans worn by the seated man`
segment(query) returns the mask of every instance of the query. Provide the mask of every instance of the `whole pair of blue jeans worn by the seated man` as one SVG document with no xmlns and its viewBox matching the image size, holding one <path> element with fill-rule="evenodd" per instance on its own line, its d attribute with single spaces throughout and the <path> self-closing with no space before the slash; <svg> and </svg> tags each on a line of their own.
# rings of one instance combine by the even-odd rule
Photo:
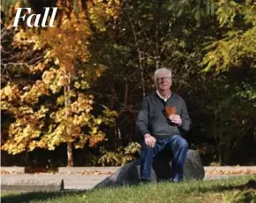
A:
<svg viewBox="0 0 256 203">
<path fill-rule="evenodd" d="M 142 141 L 140 151 L 141 179 L 151 180 L 151 167 L 154 156 L 158 154 L 164 147 L 169 147 L 173 153 L 173 181 L 183 181 L 184 161 L 188 150 L 188 144 L 187 141 L 180 135 L 171 135 L 167 139 L 156 139 L 153 148 L 148 147 L 145 141 Z"/>
</svg>

